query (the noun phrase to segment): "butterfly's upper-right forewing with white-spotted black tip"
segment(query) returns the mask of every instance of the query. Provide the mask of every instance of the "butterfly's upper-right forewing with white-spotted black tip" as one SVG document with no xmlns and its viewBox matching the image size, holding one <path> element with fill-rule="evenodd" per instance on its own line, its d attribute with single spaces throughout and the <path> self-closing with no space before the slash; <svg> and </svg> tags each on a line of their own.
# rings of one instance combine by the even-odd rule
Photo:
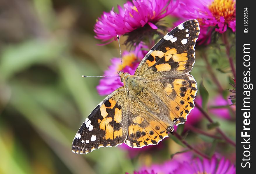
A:
<svg viewBox="0 0 256 174">
<path fill-rule="evenodd" d="M 135 75 L 176 77 L 190 72 L 195 62 L 194 46 L 199 31 L 196 19 L 181 23 L 147 53 Z"/>
</svg>

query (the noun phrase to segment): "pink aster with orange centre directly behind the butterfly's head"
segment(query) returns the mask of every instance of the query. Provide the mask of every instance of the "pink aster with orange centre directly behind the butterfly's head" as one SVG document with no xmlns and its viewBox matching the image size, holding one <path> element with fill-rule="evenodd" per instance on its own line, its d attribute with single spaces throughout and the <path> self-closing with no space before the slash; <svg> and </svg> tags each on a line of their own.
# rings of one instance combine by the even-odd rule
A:
<svg viewBox="0 0 256 174">
<path fill-rule="evenodd" d="M 143 48 L 143 50 L 141 50 Z M 148 47 L 143 44 L 136 46 L 134 51 L 125 51 L 122 54 L 122 64 L 124 72 L 134 75 L 136 68 L 138 67 L 140 61 L 147 54 Z M 112 65 L 108 67 L 108 70 L 104 72 L 104 76 L 118 76 L 118 71 L 122 70 L 121 59 L 113 58 L 111 59 Z M 112 93 L 117 88 L 123 86 L 120 81 L 120 77 L 104 77 L 100 79 L 99 85 L 96 87 L 99 95 L 108 95 Z"/>
</svg>

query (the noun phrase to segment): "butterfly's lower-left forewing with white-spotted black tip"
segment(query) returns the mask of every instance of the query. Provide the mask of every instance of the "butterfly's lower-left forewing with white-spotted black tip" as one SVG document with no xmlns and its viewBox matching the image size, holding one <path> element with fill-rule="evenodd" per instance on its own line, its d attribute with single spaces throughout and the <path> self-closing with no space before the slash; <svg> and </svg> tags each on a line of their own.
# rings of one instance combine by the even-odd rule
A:
<svg viewBox="0 0 256 174">
<path fill-rule="evenodd" d="M 124 88 L 108 95 L 88 116 L 72 143 L 74 153 L 89 153 L 100 147 L 122 144 L 128 134 L 128 120 L 122 112 Z"/>
</svg>

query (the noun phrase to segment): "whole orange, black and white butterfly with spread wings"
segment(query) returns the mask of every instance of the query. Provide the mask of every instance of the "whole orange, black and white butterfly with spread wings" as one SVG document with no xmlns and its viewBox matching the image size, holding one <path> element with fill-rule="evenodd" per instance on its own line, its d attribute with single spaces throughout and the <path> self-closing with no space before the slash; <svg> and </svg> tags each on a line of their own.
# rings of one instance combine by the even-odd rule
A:
<svg viewBox="0 0 256 174">
<path fill-rule="evenodd" d="M 134 75 L 118 72 L 124 86 L 108 95 L 85 119 L 73 139 L 74 153 L 122 143 L 156 145 L 194 108 L 197 83 L 189 72 L 199 35 L 196 19 L 167 33 L 145 55 Z"/>
</svg>

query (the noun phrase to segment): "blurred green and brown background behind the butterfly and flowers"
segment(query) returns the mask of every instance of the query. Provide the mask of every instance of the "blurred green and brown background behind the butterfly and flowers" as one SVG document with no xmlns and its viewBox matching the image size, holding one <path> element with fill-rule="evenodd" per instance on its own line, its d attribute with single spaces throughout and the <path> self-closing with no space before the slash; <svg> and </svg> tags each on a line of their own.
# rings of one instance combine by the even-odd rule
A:
<svg viewBox="0 0 256 174">
<path fill-rule="evenodd" d="M 131 173 L 145 159 L 148 163 L 163 161 L 181 148 L 168 139 L 165 143 L 172 147 L 168 153 L 149 157 L 151 152 L 145 152 L 134 159 L 119 147 L 100 148 L 87 155 L 71 151 L 79 126 L 104 98 L 95 88 L 99 79 L 81 75 L 102 75 L 109 60 L 119 57 L 117 42 L 96 45 L 100 41 L 94 39 L 95 20 L 123 3 L 0 1 L 0 173 Z M 225 57 L 225 51 L 217 52 Z M 200 84 L 208 75 L 197 55 L 192 74 Z M 209 57 L 214 69 L 229 70 L 226 57 Z M 232 88 L 231 73 L 216 73 L 223 88 Z M 205 86 L 212 90 L 210 97 L 216 95 L 210 80 Z M 234 128 L 229 123 L 223 127 L 229 131 L 230 126 Z M 229 133 L 234 136 L 234 131 Z"/>
</svg>

